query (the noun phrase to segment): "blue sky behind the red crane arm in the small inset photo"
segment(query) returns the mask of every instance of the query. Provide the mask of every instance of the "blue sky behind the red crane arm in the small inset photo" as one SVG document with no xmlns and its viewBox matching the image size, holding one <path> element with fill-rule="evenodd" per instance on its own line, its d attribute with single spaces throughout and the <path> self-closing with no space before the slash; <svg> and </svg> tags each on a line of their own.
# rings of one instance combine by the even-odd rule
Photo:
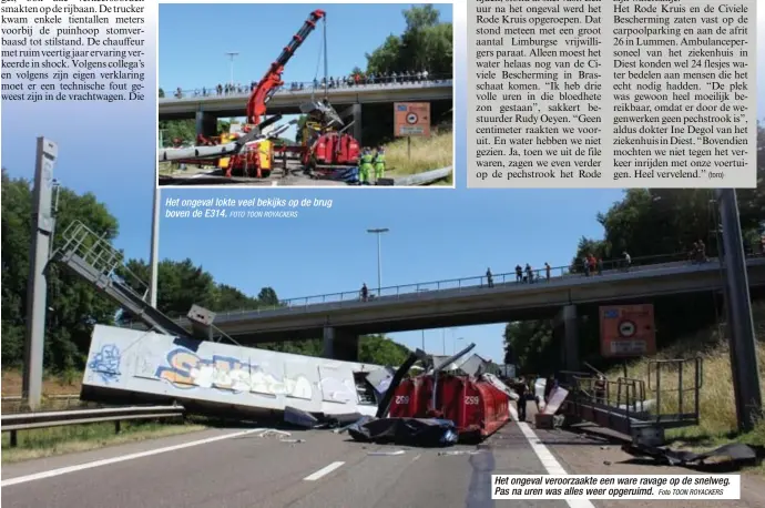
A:
<svg viewBox="0 0 765 508">
<path fill-rule="evenodd" d="M 385 39 L 406 28 L 406 3 L 232 3 L 160 4 L 160 87 L 165 91 L 211 88 L 230 80 L 226 52 L 238 52 L 234 81 L 258 81 L 308 14 L 324 10 L 327 23 L 329 75 L 347 74 L 366 67 Z M 436 4 L 441 21 L 451 21 L 451 4 Z M 308 35 L 287 64 L 283 79 L 313 81 L 323 54 L 323 26 Z M 324 77 L 324 63 L 318 79 Z"/>
</svg>

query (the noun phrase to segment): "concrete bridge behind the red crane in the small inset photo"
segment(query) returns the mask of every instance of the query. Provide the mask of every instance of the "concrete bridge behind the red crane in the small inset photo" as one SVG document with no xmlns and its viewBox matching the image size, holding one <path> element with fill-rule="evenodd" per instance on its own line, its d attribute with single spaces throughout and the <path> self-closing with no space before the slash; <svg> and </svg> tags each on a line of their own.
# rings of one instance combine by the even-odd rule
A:
<svg viewBox="0 0 765 508">
<path fill-rule="evenodd" d="M 249 91 L 243 89 L 220 95 L 214 88 L 176 92 L 176 95 L 159 99 L 160 120 L 195 119 L 197 134 L 213 135 L 218 118 L 244 116 Z M 300 104 L 313 96 L 323 98 L 324 88 L 314 90 L 314 83 L 303 83 L 302 89 L 285 85 L 268 102 L 268 114 L 299 114 Z M 363 140 L 364 109 L 389 106 L 391 130 L 394 102 L 430 102 L 431 118 L 438 119 L 441 110 L 452 108 L 453 83 L 449 77 L 420 82 L 341 85 L 328 89 L 328 98 L 341 116 L 355 122 L 354 136 Z"/>
</svg>

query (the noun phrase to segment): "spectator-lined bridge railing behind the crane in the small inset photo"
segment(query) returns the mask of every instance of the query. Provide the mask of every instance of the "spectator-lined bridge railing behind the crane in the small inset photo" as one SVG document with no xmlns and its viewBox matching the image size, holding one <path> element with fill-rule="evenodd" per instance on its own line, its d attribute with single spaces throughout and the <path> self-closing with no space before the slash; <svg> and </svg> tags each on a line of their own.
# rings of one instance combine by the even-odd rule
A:
<svg viewBox="0 0 765 508">
<path fill-rule="evenodd" d="M 412 88 L 432 88 L 432 87 L 445 87 L 451 85 L 451 75 L 428 75 L 427 78 L 409 78 L 401 79 L 400 77 L 394 78 L 375 78 L 374 80 L 367 80 L 361 82 L 350 82 L 350 81 L 335 81 L 329 82 L 327 89 L 329 91 L 348 91 L 348 90 L 385 90 L 385 89 L 412 89 Z M 316 92 L 324 93 L 324 83 L 307 81 L 307 82 L 285 82 L 282 88 L 279 88 L 277 94 L 289 94 L 289 93 L 307 93 Z M 217 85 L 214 87 L 202 87 L 191 90 L 164 90 L 165 96 L 160 98 L 160 102 L 173 102 L 182 101 L 188 99 L 214 99 L 214 98 L 225 98 L 225 96 L 241 96 L 246 98 L 251 93 L 251 88 L 248 84 L 237 84 L 226 88 L 224 85 L 223 90 L 218 92 Z"/>
</svg>

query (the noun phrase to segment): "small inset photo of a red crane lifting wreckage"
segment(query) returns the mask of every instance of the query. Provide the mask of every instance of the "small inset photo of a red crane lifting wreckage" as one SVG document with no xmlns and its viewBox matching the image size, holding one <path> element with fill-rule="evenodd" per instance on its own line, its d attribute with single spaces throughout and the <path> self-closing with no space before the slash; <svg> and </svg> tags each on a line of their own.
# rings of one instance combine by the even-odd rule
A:
<svg viewBox="0 0 765 508">
<path fill-rule="evenodd" d="M 159 185 L 453 187 L 452 6 L 161 4 Z"/>
</svg>

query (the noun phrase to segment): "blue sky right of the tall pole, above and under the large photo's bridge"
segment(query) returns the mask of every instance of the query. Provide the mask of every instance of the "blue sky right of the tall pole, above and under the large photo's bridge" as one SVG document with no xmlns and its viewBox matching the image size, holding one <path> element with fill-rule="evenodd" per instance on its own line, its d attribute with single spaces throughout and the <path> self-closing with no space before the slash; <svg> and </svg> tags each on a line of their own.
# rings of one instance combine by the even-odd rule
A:
<svg viewBox="0 0 765 508">
<path fill-rule="evenodd" d="M 302 210 L 299 219 L 177 220 L 161 223 L 162 256 L 201 263 L 218 282 L 256 295 L 273 286 L 279 297 L 357 292 L 377 285 L 382 236 L 382 286 L 510 272 L 518 263 L 567 265 L 581 235 L 600 236 L 595 214 L 621 191 L 205 191 L 165 190 L 171 196 L 325 197 L 330 210 Z M 460 328 L 457 337 L 501 360 L 502 325 Z M 410 347 L 420 332 L 395 334 Z M 447 334 L 447 350 L 451 335 Z M 426 332 L 426 347 L 441 350 L 441 332 Z"/>
</svg>

